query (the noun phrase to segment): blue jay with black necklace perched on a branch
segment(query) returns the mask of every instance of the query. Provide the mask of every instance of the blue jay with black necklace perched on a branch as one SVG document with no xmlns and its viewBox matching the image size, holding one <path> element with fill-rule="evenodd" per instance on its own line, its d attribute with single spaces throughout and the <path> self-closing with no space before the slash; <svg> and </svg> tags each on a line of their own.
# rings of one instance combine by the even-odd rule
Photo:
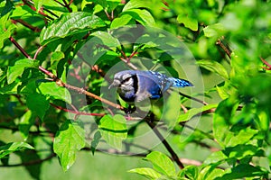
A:
<svg viewBox="0 0 271 180">
<path fill-rule="evenodd" d="M 117 72 L 108 89 L 117 87 L 117 93 L 126 103 L 145 99 L 159 99 L 171 87 L 193 86 L 191 82 L 150 70 L 123 70 Z"/>
</svg>

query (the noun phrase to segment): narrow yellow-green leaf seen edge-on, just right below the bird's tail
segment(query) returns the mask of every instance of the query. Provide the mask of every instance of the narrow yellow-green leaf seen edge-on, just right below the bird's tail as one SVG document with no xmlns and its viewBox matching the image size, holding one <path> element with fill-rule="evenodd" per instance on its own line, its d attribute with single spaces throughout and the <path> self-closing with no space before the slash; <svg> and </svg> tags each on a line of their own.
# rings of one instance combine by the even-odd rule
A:
<svg viewBox="0 0 271 180">
<path fill-rule="evenodd" d="M 200 108 L 192 108 L 192 109 L 188 110 L 188 112 L 183 113 L 182 115 L 180 115 L 179 118 L 178 118 L 178 122 L 180 122 L 180 121 L 189 121 L 195 115 L 199 115 L 201 112 L 208 111 L 210 109 L 216 108 L 217 106 L 218 106 L 217 103 L 213 103 L 213 104 L 204 105 L 204 106 L 202 106 Z"/>
</svg>

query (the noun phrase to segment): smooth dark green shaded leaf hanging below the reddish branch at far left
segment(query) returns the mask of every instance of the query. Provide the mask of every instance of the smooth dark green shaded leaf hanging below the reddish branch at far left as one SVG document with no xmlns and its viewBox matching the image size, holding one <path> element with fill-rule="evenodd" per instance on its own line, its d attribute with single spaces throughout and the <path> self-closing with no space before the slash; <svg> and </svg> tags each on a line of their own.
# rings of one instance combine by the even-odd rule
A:
<svg viewBox="0 0 271 180">
<path fill-rule="evenodd" d="M 50 107 L 50 103 L 46 100 L 46 97 L 37 93 L 27 95 L 26 105 L 32 112 L 35 112 L 41 120 L 43 120 L 46 111 Z"/>
</svg>

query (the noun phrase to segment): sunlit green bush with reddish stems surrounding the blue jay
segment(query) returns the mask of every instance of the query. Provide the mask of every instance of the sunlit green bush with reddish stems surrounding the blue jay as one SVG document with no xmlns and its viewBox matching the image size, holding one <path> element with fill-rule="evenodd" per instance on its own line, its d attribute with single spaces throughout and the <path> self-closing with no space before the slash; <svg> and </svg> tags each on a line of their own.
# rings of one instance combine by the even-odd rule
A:
<svg viewBox="0 0 271 180">
<path fill-rule="evenodd" d="M 38 179 L 42 162 L 67 171 L 89 150 L 143 154 L 152 167 L 129 172 L 150 179 L 271 178 L 269 0 L 3 0 L 0 13 L 1 166 L 35 165 Z M 195 90 L 127 115 L 107 93 L 125 68 L 188 76 Z M 145 130 L 165 150 L 136 140 Z"/>
</svg>

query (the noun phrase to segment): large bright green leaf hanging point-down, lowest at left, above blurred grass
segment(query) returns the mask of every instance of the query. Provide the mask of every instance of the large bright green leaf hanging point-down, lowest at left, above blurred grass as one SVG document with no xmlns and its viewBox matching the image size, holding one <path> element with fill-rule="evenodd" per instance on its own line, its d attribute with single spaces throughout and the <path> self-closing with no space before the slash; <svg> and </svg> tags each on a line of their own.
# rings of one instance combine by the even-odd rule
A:
<svg viewBox="0 0 271 180">
<path fill-rule="evenodd" d="M 76 159 L 76 152 L 85 147 L 85 130 L 80 121 L 64 121 L 53 142 L 53 151 L 67 171 Z"/>
</svg>

